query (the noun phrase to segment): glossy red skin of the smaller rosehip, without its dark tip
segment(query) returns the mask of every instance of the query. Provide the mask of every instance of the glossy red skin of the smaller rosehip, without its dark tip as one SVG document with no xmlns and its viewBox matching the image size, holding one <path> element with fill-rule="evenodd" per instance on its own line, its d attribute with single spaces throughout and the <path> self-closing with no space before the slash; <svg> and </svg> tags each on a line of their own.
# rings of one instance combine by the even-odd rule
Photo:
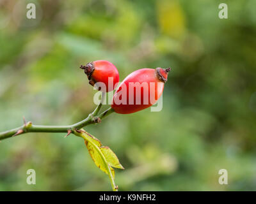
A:
<svg viewBox="0 0 256 204">
<path fill-rule="evenodd" d="M 103 92 L 113 91 L 115 85 L 119 82 L 119 73 L 115 65 L 109 61 L 99 60 L 93 61 L 94 71 L 92 73 L 92 79 L 95 82 L 102 82 L 106 85 L 106 90 L 100 90 Z M 109 84 L 109 77 L 113 77 L 113 85 Z M 110 81 L 111 82 L 111 81 Z"/>
</svg>

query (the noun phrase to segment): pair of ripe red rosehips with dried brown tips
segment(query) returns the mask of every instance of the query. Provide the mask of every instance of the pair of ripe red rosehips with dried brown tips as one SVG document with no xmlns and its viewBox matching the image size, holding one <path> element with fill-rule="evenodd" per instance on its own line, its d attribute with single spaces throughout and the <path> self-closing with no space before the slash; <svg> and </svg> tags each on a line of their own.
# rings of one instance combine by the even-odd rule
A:
<svg viewBox="0 0 256 204">
<path fill-rule="evenodd" d="M 106 90 L 99 91 L 113 91 L 119 82 L 118 70 L 111 62 L 93 61 L 86 66 L 81 65 L 80 68 L 84 69 L 89 84 L 97 85 L 97 82 L 101 82 L 106 85 Z M 116 89 L 111 108 L 116 113 L 128 114 L 154 105 L 163 93 L 169 71 L 170 68 L 144 68 L 132 72 Z M 112 78 L 112 85 L 109 84 L 109 77 Z"/>
</svg>

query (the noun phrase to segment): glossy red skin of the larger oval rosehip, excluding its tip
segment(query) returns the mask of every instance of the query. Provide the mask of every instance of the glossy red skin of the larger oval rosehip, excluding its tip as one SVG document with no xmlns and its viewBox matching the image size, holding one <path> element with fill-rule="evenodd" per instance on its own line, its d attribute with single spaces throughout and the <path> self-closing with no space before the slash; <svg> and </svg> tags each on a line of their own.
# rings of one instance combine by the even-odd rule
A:
<svg viewBox="0 0 256 204">
<path fill-rule="evenodd" d="M 146 82 L 148 84 L 148 92 L 147 95 L 145 96 L 145 98 L 148 98 L 148 104 L 143 104 L 143 87 L 141 87 L 141 104 L 140 105 L 136 105 L 136 85 L 134 87 L 129 87 L 129 82 L 139 82 L 140 84 L 143 82 Z M 155 85 L 153 87 L 150 87 L 150 82 L 155 82 Z M 157 82 L 159 82 L 159 85 L 157 87 Z M 115 103 L 115 98 L 120 97 L 120 99 L 122 98 L 120 96 L 120 93 L 118 94 L 118 92 L 122 91 L 122 86 L 126 85 L 127 87 L 127 92 L 126 92 L 126 98 L 127 98 L 127 104 L 116 104 Z M 153 88 L 153 89 L 152 89 Z M 129 89 L 133 89 L 133 91 L 131 90 L 131 92 L 134 93 L 134 104 L 133 105 L 129 105 Z M 128 75 L 124 81 L 120 84 L 120 86 L 118 87 L 118 89 L 116 90 L 114 97 L 113 97 L 113 101 L 112 101 L 112 105 L 111 108 L 113 108 L 115 110 L 116 113 L 121 113 L 121 114 L 129 114 L 129 113 L 134 113 L 134 112 L 138 112 L 140 110 L 143 110 L 145 108 L 148 108 L 152 105 L 154 105 L 157 100 L 160 98 L 161 94 L 163 93 L 163 89 L 164 89 L 164 82 L 161 82 L 157 76 L 156 76 L 156 69 L 148 69 L 148 68 L 144 68 L 144 69 L 138 69 L 134 72 L 132 72 L 130 75 Z M 155 98 L 154 101 L 150 101 L 150 92 L 152 94 L 155 93 Z M 154 95 L 152 95 L 154 96 Z"/>
</svg>

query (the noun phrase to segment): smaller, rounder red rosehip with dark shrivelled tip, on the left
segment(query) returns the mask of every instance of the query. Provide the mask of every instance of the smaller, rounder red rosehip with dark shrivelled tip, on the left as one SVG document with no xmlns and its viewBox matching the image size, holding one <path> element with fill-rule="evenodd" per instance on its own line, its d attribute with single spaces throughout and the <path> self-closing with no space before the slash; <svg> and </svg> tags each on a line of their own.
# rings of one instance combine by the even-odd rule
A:
<svg viewBox="0 0 256 204">
<path fill-rule="evenodd" d="M 109 61 L 98 60 L 89 62 L 86 66 L 81 65 L 81 69 L 84 69 L 86 73 L 89 84 L 94 86 L 97 82 L 104 83 L 106 89 L 100 86 L 99 91 L 109 92 L 113 91 L 115 85 L 119 82 L 119 73 L 115 65 Z M 97 85 L 97 84 L 96 84 Z"/>
</svg>

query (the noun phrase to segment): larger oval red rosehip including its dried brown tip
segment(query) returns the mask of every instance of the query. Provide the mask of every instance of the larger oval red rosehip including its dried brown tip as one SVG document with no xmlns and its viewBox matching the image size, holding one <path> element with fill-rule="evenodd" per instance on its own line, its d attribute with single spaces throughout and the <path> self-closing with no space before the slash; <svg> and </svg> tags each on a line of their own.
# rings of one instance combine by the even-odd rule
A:
<svg viewBox="0 0 256 204">
<path fill-rule="evenodd" d="M 116 90 L 111 108 L 116 113 L 128 114 L 154 105 L 163 93 L 170 69 L 144 68 L 132 72 Z"/>
</svg>

